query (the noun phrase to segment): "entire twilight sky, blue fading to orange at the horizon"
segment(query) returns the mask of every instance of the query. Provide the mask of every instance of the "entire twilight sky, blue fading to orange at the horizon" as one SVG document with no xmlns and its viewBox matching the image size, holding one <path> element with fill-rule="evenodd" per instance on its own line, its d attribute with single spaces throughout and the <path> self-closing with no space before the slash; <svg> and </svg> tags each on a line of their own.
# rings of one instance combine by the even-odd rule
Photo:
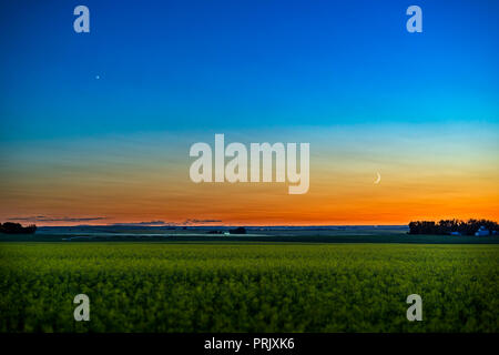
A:
<svg viewBox="0 0 499 355">
<path fill-rule="evenodd" d="M 493 0 L 1 1 L 0 222 L 498 220 L 498 18 Z M 215 133 L 309 142 L 308 192 L 193 183 L 190 146 Z"/>
</svg>

